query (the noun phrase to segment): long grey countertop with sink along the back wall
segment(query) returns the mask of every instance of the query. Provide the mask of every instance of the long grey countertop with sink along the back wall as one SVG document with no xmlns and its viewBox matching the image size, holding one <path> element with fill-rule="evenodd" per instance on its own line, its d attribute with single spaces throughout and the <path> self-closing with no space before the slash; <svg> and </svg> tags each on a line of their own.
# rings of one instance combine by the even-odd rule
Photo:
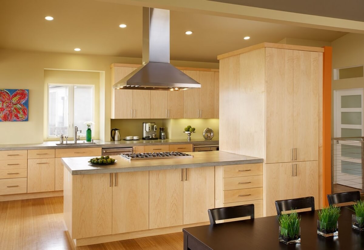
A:
<svg viewBox="0 0 364 250">
<path fill-rule="evenodd" d="M 71 143 L 73 140 L 70 141 Z M 139 140 L 139 141 L 100 141 L 95 140 L 96 144 L 82 145 L 82 141 L 78 142 L 80 145 L 62 145 L 57 146 L 58 141 L 45 141 L 40 144 L 4 144 L 0 145 L 0 151 L 3 150 L 31 150 L 31 149 L 63 149 L 63 148 L 122 148 L 130 146 L 146 146 L 146 145 L 170 145 L 170 144 L 206 144 L 218 143 L 218 138 L 212 140 L 205 139 L 166 139 L 166 140 Z"/>
</svg>

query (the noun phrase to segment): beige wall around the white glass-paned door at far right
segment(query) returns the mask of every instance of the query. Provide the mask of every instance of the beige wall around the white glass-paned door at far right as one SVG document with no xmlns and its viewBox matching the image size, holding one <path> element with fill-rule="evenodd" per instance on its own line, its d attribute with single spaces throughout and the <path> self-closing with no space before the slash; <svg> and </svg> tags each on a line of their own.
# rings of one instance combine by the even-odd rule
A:
<svg viewBox="0 0 364 250">
<path fill-rule="evenodd" d="M 349 33 L 332 42 L 332 68 L 364 65 L 364 35 Z M 332 79 L 333 76 L 332 76 Z M 332 137 L 334 136 L 333 93 L 337 89 L 364 88 L 364 78 L 332 80 Z"/>
</svg>

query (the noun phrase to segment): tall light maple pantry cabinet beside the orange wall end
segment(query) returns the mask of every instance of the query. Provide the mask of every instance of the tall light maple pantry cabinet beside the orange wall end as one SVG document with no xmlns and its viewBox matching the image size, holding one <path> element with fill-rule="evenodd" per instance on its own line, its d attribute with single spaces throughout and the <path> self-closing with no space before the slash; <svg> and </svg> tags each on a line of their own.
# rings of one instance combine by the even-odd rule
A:
<svg viewBox="0 0 364 250">
<path fill-rule="evenodd" d="M 265 216 L 279 199 L 318 208 L 323 51 L 263 43 L 218 57 L 220 150 L 264 159 Z"/>
</svg>

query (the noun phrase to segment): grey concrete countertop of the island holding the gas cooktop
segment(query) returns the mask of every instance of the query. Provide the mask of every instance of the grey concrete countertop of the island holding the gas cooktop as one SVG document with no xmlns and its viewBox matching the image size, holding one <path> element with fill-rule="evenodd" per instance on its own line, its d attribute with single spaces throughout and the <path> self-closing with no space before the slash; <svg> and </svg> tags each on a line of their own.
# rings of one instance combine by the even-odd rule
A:
<svg viewBox="0 0 364 250">
<path fill-rule="evenodd" d="M 92 157 L 62 158 L 64 166 L 72 175 L 105 174 L 135 171 L 150 171 L 164 169 L 199 168 L 208 166 L 238 165 L 262 163 L 263 159 L 233 154 L 223 151 L 191 152 L 193 158 L 172 158 L 129 161 L 120 156 L 111 156 L 118 162 L 104 167 L 88 163 Z"/>
</svg>

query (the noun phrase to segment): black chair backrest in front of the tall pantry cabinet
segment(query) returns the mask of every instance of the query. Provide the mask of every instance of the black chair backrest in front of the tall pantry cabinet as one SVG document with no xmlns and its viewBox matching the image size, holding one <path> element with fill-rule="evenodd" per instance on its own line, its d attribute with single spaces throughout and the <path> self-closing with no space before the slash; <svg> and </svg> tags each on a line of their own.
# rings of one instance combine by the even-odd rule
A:
<svg viewBox="0 0 364 250">
<path fill-rule="evenodd" d="M 304 209 L 311 208 L 311 211 L 315 210 L 315 199 L 312 196 L 297 198 L 297 199 L 284 199 L 276 201 L 277 214 L 281 215 L 284 211 L 290 211 L 292 209 Z"/>
</svg>

